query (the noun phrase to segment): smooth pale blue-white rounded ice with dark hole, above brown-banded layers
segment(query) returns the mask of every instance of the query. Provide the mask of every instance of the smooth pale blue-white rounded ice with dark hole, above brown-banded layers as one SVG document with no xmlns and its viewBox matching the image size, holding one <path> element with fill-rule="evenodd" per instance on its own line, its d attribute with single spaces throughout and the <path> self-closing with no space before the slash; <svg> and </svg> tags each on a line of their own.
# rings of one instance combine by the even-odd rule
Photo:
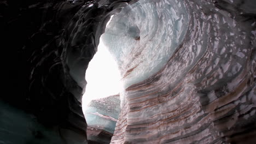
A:
<svg viewBox="0 0 256 144">
<path fill-rule="evenodd" d="M 125 88 L 162 69 L 182 44 L 188 21 L 182 1 L 142 0 L 113 16 L 102 40 L 119 65 Z"/>
</svg>

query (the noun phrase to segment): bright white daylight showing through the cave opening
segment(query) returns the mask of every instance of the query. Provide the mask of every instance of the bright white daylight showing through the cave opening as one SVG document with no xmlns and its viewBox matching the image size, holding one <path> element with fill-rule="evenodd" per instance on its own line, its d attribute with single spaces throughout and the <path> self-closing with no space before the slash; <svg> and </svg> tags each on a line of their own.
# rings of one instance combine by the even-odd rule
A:
<svg viewBox="0 0 256 144">
<path fill-rule="evenodd" d="M 118 94 L 121 88 L 118 65 L 100 39 L 98 51 L 86 70 L 86 90 L 83 95 L 83 111 L 91 100 Z"/>
</svg>

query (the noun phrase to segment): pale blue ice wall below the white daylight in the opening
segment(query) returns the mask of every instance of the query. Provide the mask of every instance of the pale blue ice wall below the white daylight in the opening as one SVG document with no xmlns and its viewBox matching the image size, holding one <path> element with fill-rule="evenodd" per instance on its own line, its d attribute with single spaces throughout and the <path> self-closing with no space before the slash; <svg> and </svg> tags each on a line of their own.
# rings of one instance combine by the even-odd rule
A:
<svg viewBox="0 0 256 144">
<path fill-rule="evenodd" d="M 119 94 L 92 100 L 84 111 L 88 123 L 88 143 L 110 143 L 119 113 Z"/>
</svg>

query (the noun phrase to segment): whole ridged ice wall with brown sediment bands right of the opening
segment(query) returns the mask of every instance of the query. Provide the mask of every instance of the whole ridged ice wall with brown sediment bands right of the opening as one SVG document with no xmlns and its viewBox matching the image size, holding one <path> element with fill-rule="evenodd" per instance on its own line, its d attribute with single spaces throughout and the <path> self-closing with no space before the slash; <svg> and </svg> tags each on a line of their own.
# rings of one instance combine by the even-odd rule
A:
<svg viewBox="0 0 256 144">
<path fill-rule="evenodd" d="M 103 41 L 125 90 L 111 143 L 251 143 L 253 1 L 138 1 Z"/>
</svg>

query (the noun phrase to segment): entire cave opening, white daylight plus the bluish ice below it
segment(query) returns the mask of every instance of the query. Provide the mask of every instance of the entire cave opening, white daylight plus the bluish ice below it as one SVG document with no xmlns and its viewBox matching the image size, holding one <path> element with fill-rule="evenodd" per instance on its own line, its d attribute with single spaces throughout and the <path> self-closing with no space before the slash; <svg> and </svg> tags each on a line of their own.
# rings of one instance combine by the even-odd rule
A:
<svg viewBox="0 0 256 144">
<path fill-rule="evenodd" d="M 120 113 L 122 85 L 117 62 L 101 39 L 85 79 L 82 108 L 88 124 L 88 143 L 110 143 Z"/>
</svg>

